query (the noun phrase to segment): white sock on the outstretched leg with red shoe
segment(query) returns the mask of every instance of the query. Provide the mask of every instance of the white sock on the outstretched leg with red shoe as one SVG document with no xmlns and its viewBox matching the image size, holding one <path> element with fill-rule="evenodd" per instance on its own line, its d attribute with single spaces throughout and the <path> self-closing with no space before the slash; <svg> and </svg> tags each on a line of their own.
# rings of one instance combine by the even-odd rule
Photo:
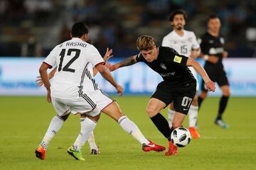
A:
<svg viewBox="0 0 256 170">
<path fill-rule="evenodd" d="M 142 135 L 142 132 L 139 130 L 137 125 L 135 125 L 127 116 L 123 115 L 118 120 L 119 125 L 122 127 L 123 130 L 128 132 L 132 135 L 137 141 L 139 141 L 141 144 L 149 144 L 149 140 L 146 140 L 144 135 Z"/>
</svg>

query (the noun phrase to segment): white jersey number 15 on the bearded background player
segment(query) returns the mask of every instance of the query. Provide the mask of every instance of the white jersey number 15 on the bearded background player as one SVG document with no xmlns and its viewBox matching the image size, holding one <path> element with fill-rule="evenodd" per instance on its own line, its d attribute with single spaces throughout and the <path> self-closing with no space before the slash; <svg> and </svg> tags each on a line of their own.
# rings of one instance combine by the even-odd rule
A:
<svg viewBox="0 0 256 170">
<path fill-rule="evenodd" d="M 171 31 L 163 38 L 162 46 L 172 47 L 178 54 L 186 57 L 190 57 L 191 50 L 200 47 L 196 40 L 196 35 L 188 30 L 184 30 L 183 36 L 178 35 L 175 30 Z"/>
</svg>

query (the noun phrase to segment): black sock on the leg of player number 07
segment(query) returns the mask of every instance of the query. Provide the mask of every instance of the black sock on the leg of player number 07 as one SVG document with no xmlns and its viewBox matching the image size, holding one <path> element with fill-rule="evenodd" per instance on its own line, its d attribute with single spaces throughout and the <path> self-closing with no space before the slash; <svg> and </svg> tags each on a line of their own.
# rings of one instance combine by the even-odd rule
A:
<svg viewBox="0 0 256 170">
<path fill-rule="evenodd" d="M 154 125 L 156 125 L 156 128 L 161 132 L 161 134 L 163 134 L 167 140 L 171 141 L 172 130 L 170 129 L 169 123 L 166 118 L 164 118 L 161 113 L 157 113 L 154 117 L 151 118 L 151 120 Z"/>
</svg>

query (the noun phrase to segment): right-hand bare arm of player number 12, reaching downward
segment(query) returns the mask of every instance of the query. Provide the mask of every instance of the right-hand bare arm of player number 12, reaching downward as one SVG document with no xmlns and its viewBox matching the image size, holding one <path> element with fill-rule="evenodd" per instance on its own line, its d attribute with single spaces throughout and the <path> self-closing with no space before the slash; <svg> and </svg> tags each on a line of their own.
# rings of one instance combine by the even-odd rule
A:
<svg viewBox="0 0 256 170">
<path fill-rule="evenodd" d="M 110 70 L 107 69 L 107 67 L 105 67 L 102 64 L 97 64 L 96 68 L 100 72 L 100 74 L 102 74 L 102 77 L 104 77 L 107 81 L 110 82 L 110 84 L 112 84 L 114 86 L 114 88 L 117 90 L 117 93 L 119 94 L 119 96 L 122 96 L 124 89 L 122 86 L 117 84 L 116 81 L 114 81 L 114 77 L 112 77 Z"/>
</svg>

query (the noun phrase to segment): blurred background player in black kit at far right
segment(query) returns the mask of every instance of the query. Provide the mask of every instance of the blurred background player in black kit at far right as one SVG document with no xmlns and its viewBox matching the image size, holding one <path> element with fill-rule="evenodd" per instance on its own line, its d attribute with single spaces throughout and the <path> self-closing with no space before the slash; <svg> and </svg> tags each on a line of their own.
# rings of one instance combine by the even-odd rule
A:
<svg viewBox="0 0 256 170">
<path fill-rule="evenodd" d="M 218 115 L 215 118 L 215 124 L 222 128 L 228 128 L 223 121 L 223 113 L 230 96 L 230 86 L 228 77 L 223 67 L 223 58 L 228 57 L 228 52 L 223 48 L 225 43 L 223 35 L 220 34 L 220 18 L 211 15 L 208 18 L 208 31 L 199 39 L 202 57 L 206 60 L 204 69 L 208 73 L 210 79 L 216 81 L 222 91 L 223 96 L 220 98 Z M 201 107 L 203 99 L 207 96 L 207 89 L 204 82 L 201 84 L 201 94 L 198 97 L 198 106 Z"/>
</svg>

